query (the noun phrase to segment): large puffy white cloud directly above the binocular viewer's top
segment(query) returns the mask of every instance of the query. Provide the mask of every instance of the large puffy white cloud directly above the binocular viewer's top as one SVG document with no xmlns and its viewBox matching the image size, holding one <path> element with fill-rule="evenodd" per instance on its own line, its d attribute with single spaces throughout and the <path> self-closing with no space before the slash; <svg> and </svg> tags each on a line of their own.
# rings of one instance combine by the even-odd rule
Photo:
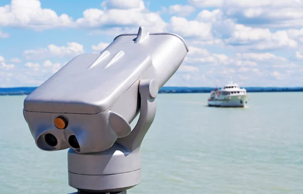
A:
<svg viewBox="0 0 303 194">
<path fill-rule="evenodd" d="M 137 32 L 139 26 L 144 26 L 150 32 L 163 32 L 167 26 L 160 13 L 150 12 L 140 0 L 107 0 L 102 6 L 104 9 L 85 10 L 75 26 L 91 28 L 103 34 L 111 34 L 113 30 L 119 32 L 114 35 Z"/>
</svg>

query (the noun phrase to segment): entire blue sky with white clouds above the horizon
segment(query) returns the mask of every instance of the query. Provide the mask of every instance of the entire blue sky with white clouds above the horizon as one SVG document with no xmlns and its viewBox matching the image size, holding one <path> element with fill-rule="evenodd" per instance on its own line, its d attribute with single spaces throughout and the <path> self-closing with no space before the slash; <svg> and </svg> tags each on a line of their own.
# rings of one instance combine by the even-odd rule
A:
<svg viewBox="0 0 303 194">
<path fill-rule="evenodd" d="M 303 0 L 0 1 L 0 87 L 38 86 L 115 36 L 181 35 L 189 53 L 166 86 L 303 85 Z"/>
</svg>

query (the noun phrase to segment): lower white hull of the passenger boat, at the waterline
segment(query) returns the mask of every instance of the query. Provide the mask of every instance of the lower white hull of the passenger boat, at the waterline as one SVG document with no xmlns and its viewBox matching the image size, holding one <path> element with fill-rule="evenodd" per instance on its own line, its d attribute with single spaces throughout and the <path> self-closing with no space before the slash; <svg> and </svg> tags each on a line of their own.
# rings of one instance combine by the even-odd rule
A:
<svg viewBox="0 0 303 194">
<path fill-rule="evenodd" d="M 234 95 L 225 99 L 209 100 L 209 107 L 241 107 L 244 108 L 248 103 L 247 95 Z"/>
</svg>

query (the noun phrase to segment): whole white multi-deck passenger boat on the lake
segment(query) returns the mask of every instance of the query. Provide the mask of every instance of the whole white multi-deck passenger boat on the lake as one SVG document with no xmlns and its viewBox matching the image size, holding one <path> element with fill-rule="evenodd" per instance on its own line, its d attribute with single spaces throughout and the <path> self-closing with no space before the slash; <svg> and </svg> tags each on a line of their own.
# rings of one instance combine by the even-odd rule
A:
<svg viewBox="0 0 303 194">
<path fill-rule="evenodd" d="M 208 99 L 210 107 L 245 107 L 248 96 L 245 88 L 240 88 L 237 83 L 230 81 L 223 88 L 215 88 Z"/>
</svg>

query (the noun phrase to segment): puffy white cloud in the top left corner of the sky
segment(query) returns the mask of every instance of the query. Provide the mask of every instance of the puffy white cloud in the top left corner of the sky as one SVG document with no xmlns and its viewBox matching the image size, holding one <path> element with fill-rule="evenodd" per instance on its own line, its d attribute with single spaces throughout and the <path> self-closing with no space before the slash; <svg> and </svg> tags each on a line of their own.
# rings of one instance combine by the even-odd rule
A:
<svg viewBox="0 0 303 194">
<path fill-rule="evenodd" d="M 42 9 L 38 0 L 12 0 L 10 5 L 0 7 L 0 26 L 49 29 L 70 26 L 72 18 L 58 16 L 51 9 Z"/>
</svg>

